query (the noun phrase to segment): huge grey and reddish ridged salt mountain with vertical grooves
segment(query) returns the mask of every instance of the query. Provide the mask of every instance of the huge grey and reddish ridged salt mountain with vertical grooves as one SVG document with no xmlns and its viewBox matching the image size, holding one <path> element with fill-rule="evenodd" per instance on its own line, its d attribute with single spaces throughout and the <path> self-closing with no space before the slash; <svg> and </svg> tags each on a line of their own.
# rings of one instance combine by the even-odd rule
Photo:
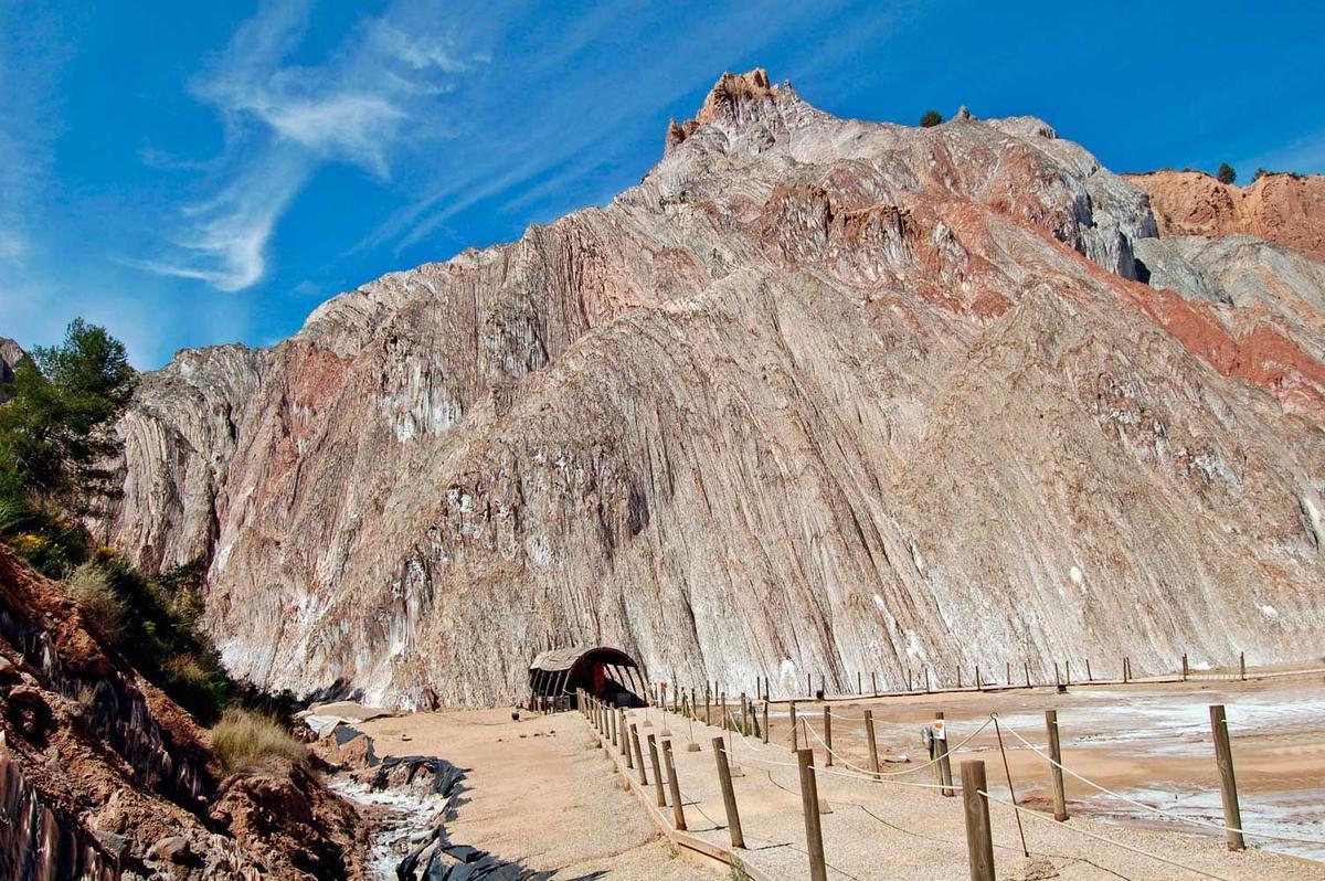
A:
<svg viewBox="0 0 1325 881">
<path fill-rule="evenodd" d="M 1157 234 L 1039 119 L 725 74 L 608 207 L 144 378 L 101 527 L 208 560 L 233 673 L 403 706 L 570 643 L 775 693 L 1318 654 L 1325 265 Z"/>
</svg>

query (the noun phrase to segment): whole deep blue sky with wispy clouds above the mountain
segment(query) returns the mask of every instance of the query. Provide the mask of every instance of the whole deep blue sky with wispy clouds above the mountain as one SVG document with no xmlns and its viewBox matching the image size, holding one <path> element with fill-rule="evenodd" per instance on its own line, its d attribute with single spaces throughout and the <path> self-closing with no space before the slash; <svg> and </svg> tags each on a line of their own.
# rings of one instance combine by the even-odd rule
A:
<svg viewBox="0 0 1325 881">
<path fill-rule="evenodd" d="M 1035 114 L 1116 171 L 1325 171 L 1321 4 L 0 0 L 0 335 L 158 367 L 606 203 L 723 70 Z"/>
</svg>

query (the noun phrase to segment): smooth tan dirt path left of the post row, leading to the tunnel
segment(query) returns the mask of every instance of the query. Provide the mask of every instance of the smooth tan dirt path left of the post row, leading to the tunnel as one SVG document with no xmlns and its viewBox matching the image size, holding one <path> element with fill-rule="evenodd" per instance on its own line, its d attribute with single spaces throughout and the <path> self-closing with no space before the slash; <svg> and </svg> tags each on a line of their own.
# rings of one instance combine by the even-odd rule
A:
<svg viewBox="0 0 1325 881">
<path fill-rule="evenodd" d="M 420 713 L 359 726 L 378 755 L 437 755 L 468 768 L 453 841 L 558 878 L 712 881 L 677 858 L 575 713 Z M 408 738 L 408 739 L 405 739 Z"/>
</svg>

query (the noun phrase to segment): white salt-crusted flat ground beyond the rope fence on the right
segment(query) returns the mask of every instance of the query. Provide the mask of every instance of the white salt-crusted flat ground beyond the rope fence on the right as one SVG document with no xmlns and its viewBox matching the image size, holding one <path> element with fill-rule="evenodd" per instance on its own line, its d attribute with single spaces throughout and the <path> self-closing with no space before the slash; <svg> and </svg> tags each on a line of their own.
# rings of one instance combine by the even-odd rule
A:
<svg viewBox="0 0 1325 881">
<path fill-rule="evenodd" d="M 906 698 L 798 703 L 823 737 L 823 711 L 833 714 L 833 752 L 868 767 L 863 711 L 874 715 L 881 755 L 928 758 L 920 729 L 942 710 L 953 742 L 965 739 L 990 713 L 999 714 L 1012 787 L 1019 800 L 1048 804 L 1048 766 L 1014 734 L 1047 749 L 1044 710 L 1057 710 L 1063 762 L 1110 790 L 1183 816 L 1222 821 L 1208 707 L 1226 707 L 1238 776 L 1243 828 L 1325 840 L 1325 676 L 1259 681 L 1189 681 L 1079 686 L 994 693 L 949 693 Z M 790 743 L 786 705 L 774 705 L 770 739 Z M 804 734 L 802 734 L 804 739 Z M 823 745 L 811 739 L 822 763 Z M 971 751 L 994 751 L 991 783 L 1006 796 L 1007 774 L 992 726 L 971 741 Z M 1072 776 L 1069 811 L 1163 827 L 1162 817 L 1120 803 Z M 1267 849 L 1325 860 L 1325 847 L 1261 840 Z"/>
</svg>

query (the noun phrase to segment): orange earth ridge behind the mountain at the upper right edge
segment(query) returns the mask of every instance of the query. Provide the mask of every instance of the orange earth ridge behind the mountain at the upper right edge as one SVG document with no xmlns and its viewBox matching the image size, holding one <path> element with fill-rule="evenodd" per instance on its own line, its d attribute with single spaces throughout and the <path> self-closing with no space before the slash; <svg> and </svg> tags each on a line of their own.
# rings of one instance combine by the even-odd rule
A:
<svg viewBox="0 0 1325 881">
<path fill-rule="evenodd" d="M 1161 236 L 1256 236 L 1325 261 L 1325 176 L 1264 175 L 1247 187 L 1199 171 L 1128 175 Z"/>
</svg>

